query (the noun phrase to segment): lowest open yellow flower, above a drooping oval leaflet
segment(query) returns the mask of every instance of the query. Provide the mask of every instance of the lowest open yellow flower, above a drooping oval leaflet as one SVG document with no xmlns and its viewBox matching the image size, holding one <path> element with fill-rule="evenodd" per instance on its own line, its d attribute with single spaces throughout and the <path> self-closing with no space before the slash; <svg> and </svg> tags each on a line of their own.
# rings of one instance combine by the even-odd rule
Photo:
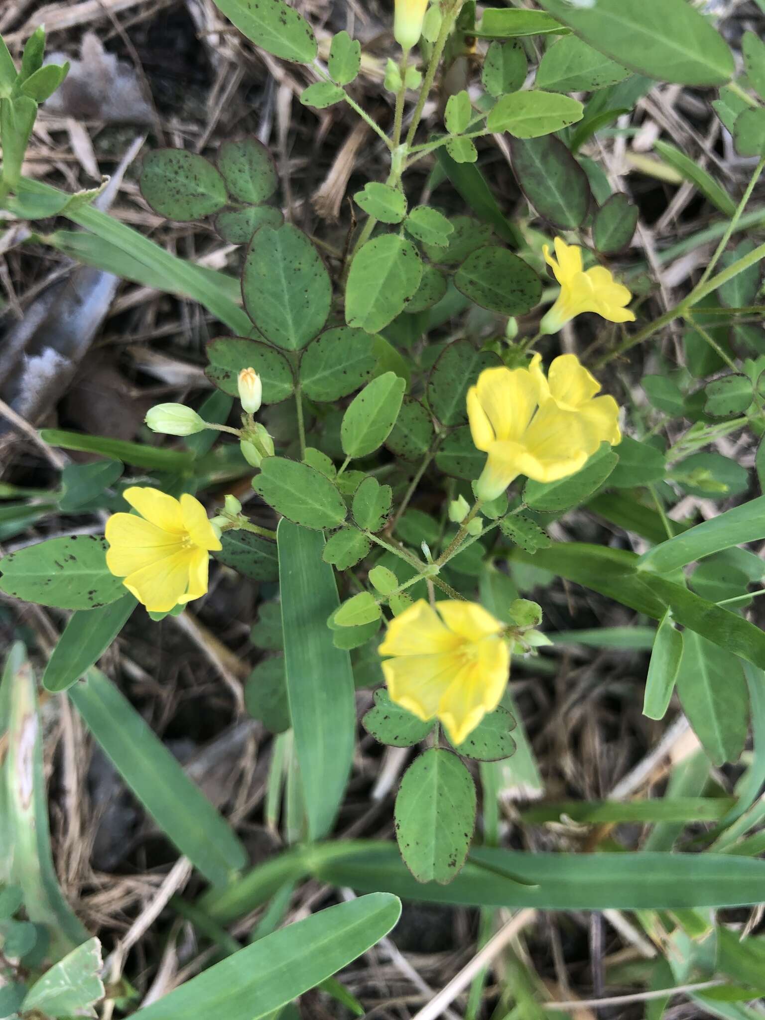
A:
<svg viewBox="0 0 765 1020">
<path fill-rule="evenodd" d="M 422 720 L 439 718 L 458 746 L 493 712 L 510 672 L 503 624 L 474 602 L 420 599 L 388 626 L 380 655 L 391 701 Z"/>
</svg>

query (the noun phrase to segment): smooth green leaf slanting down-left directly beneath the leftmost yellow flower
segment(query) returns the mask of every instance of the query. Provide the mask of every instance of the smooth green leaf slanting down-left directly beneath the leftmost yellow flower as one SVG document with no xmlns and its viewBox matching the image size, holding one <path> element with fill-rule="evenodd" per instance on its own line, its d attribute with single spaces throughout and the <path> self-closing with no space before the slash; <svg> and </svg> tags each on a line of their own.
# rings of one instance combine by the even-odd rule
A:
<svg viewBox="0 0 765 1020">
<path fill-rule="evenodd" d="M 72 613 L 45 667 L 45 690 L 60 694 L 75 683 L 101 658 L 137 605 L 126 592 L 108 606 Z"/>
</svg>

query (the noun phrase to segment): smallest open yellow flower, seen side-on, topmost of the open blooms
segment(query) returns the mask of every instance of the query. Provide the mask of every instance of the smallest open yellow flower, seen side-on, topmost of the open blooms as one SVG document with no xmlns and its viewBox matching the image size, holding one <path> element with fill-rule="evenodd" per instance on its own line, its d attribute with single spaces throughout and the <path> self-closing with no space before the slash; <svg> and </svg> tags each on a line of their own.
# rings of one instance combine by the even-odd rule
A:
<svg viewBox="0 0 765 1020">
<path fill-rule="evenodd" d="M 560 284 L 560 294 L 540 323 L 540 333 L 557 333 L 582 312 L 597 312 L 609 322 L 634 322 L 634 314 L 625 308 L 632 300 L 630 292 L 623 284 L 617 284 L 605 266 L 596 265 L 582 271 L 581 248 L 556 238 L 557 262 L 547 245 L 543 245 L 542 251 Z"/>
</svg>

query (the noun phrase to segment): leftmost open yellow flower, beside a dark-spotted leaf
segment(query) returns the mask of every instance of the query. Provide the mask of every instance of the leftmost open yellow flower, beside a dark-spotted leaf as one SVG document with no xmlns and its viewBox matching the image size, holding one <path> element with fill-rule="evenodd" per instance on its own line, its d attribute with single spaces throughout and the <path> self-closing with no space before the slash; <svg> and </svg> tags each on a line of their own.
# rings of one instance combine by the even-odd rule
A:
<svg viewBox="0 0 765 1020">
<path fill-rule="evenodd" d="M 154 613 L 198 599 L 207 591 L 210 550 L 221 548 L 205 508 L 158 489 L 134 486 L 122 494 L 141 514 L 115 513 L 106 522 L 106 565 Z"/>
</svg>

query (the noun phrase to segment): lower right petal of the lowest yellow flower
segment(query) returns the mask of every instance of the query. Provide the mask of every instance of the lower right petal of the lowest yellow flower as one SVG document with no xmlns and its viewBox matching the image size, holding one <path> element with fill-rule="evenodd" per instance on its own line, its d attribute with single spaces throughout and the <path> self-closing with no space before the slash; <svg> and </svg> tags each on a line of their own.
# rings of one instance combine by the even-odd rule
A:
<svg viewBox="0 0 765 1020">
<path fill-rule="evenodd" d="M 457 673 L 439 705 L 439 718 L 456 746 L 497 708 L 510 673 L 510 652 L 502 639 L 484 638 L 475 651 L 475 661 Z"/>
</svg>

